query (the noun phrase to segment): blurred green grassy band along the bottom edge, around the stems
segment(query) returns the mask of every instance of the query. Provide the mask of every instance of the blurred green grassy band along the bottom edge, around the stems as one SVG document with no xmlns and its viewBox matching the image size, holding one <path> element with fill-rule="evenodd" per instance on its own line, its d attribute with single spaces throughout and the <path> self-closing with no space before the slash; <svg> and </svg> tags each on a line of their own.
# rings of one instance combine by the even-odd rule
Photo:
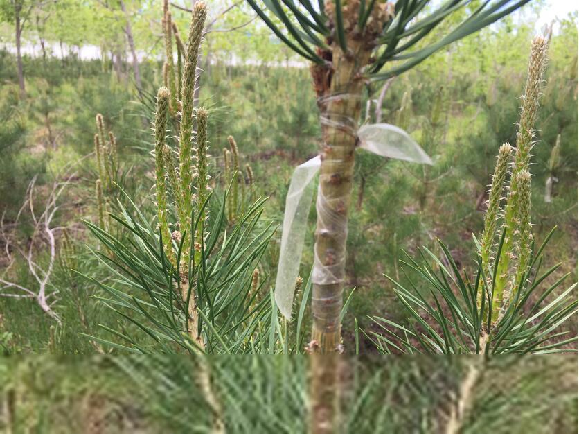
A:
<svg viewBox="0 0 579 434">
<path fill-rule="evenodd" d="M 302 433 L 308 357 L 210 358 L 226 427 Z M 443 433 L 458 402 L 461 433 L 572 434 L 576 358 L 495 358 L 457 395 L 467 356 L 344 358 L 344 433 Z M 211 411 L 183 356 L 27 356 L 0 359 L 0 429 L 8 433 L 206 432 Z M 257 369 L 256 369 L 257 368 Z M 249 398 L 249 399 L 248 399 Z M 391 431 L 393 430 L 393 431 Z"/>
</svg>

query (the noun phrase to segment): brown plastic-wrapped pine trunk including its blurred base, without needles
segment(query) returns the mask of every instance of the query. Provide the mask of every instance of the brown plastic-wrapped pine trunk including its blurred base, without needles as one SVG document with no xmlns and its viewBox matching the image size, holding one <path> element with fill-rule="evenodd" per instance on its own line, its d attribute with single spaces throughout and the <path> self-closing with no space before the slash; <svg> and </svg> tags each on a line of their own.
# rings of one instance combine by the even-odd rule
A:
<svg viewBox="0 0 579 434">
<path fill-rule="evenodd" d="M 310 379 L 310 433 L 338 433 L 341 382 L 340 312 L 346 265 L 348 210 L 352 198 L 357 123 L 364 87 L 363 69 L 370 62 L 377 35 L 389 19 L 386 6 L 375 6 L 366 27 L 359 31 L 358 1 L 342 6 L 346 51 L 334 36 L 326 41 L 330 50 L 319 55 L 331 63 L 312 66 L 314 89 L 321 112 L 323 144 L 316 204 L 312 290 L 312 356 Z M 335 3 L 326 3 L 328 25 L 335 17 Z M 332 31 L 333 34 L 333 31 Z"/>
</svg>

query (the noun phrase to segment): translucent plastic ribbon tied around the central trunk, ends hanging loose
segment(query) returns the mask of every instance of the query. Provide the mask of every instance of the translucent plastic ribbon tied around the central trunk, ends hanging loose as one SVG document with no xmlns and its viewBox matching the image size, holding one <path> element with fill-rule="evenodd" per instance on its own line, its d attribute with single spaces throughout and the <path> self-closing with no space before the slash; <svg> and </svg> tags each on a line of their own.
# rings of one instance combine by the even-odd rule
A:
<svg viewBox="0 0 579 434">
<path fill-rule="evenodd" d="M 322 121 L 326 125 L 328 125 L 328 122 L 332 122 L 329 120 L 324 122 L 324 119 Z M 352 134 L 357 134 L 357 148 L 368 150 L 382 157 L 420 164 L 432 164 L 430 157 L 420 148 L 416 141 L 407 132 L 394 125 L 389 125 L 388 123 L 364 125 L 357 132 L 355 132 L 353 125 L 348 123 L 338 122 L 335 126 L 341 129 L 346 126 Z M 348 134 L 350 131 L 344 132 Z M 289 191 L 285 199 L 275 299 L 280 312 L 288 319 L 292 315 L 296 279 L 299 275 L 308 214 L 314 194 L 314 180 L 320 166 L 321 159 L 319 155 L 297 166 L 289 183 Z M 321 189 L 318 188 L 316 209 L 318 218 L 324 227 L 341 224 L 337 219 L 332 218 L 332 213 L 328 211 L 332 208 L 328 207 L 331 200 L 336 200 L 336 198 L 324 197 L 321 194 Z M 335 230 L 336 228 L 333 227 L 333 229 Z M 341 229 L 346 231 L 347 228 Z M 343 258 L 344 254 L 338 253 L 337 256 Z M 340 272 L 342 268 L 342 264 L 339 262 L 332 263 L 332 265 L 323 265 L 317 255 L 314 255 L 312 281 L 315 284 L 338 283 L 343 280 Z"/>
</svg>

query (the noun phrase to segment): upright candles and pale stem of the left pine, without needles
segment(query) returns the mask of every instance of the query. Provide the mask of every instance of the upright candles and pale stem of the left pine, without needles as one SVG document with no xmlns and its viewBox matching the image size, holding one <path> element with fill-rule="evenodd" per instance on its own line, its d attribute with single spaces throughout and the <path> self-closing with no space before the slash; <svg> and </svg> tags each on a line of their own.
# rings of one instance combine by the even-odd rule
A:
<svg viewBox="0 0 579 434">
<path fill-rule="evenodd" d="M 197 110 L 197 137 L 196 143 L 193 139 L 194 116 L 193 116 L 193 94 L 195 89 L 195 72 L 197 69 L 197 57 L 199 46 L 202 40 L 204 23 L 207 15 L 205 3 L 197 3 L 193 10 L 192 22 L 189 33 L 188 46 L 186 51 L 186 63 L 184 76 L 181 83 L 184 88 L 181 92 L 181 100 L 177 102 L 177 82 L 172 65 L 172 22 L 167 4 L 163 16 L 163 26 L 166 31 L 166 73 L 170 89 L 161 87 L 157 94 L 157 113 L 155 116 L 155 174 L 157 191 L 157 216 L 159 220 L 159 232 L 163 241 L 163 249 L 167 258 L 174 268 L 179 269 L 181 279 L 181 297 L 187 300 L 188 305 L 188 332 L 196 344 L 204 347 L 204 342 L 199 336 L 199 318 L 197 316 L 196 295 L 193 286 L 190 284 L 190 268 L 194 266 L 195 252 L 201 249 L 203 243 L 202 225 L 205 211 L 199 211 L 199 227 L 191 229 L 192 214 L 202 208 L 207 198 L 207 111 Z M 182 108 L 179 117 L 179 171 L 175 168 L 172 160 L 172 150 L 166 144 L 166 129 L 169 108 L 175 112 L 177 105 Z M 193 150 L 197 150 L 197 165 L 193 164 Z M 197 180 L 197 197 L 193 195 L 193 179 Z M 166 178 L 172 186 L 175 196 L 176 214 L 179 222 L 179 231 L 170 232 L 168 222 L 168 199 Z M 199 203 L 199 201 L 202 201 Z M 191 230 L 190 230 L 191 229 Z M 195 243 L 195 235 L 198 236 Z M 177 263 L 173 250 L 172 240 L 179 243 L 181 257 Z M 193 263 L 190 261 L 193 260 Z"/>
</svg>

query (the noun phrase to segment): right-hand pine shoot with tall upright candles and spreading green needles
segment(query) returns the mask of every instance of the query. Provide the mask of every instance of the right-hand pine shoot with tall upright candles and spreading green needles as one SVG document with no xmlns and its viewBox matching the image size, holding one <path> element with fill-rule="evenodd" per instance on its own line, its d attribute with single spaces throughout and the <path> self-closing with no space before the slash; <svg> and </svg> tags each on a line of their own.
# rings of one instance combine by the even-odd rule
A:
<svg viewBox="0 0 579 434">
<path fill-rule="evenodd" d="M 499 148 L 480 243 L 475 238 L 479 248 L 476 275 L 471 279 L 461 273 L 440 241 L 441 259 L 426 248 L 420 251 L 422 263 L 408 257 L 404 263 L 412 272 L 408 277 L 412 280 L 412 275 L 418 275 L 432 300 L 427 300 L 416 284 L 407 289 L 391 279 L 411 325 L 373 318 L 384 331 L 371 332 L 380 351 L 545 354 L 565 351 L 560 347 L 577 339 L 562 338 L 567 333 L 560 331 L 560 326 L 576 315 L 578 302 L 571 294 L 576 284 L 558 290 L 568 277 L 553 274 L 559 265 L 542 272 L 542 252 L 553 231 L 535 249 L 531 225 L 529 165 L 547 49 L 547 40 L 535 37 L 514 157 L 509 144 Z M 549 277 L 554 283 L 542 288 Z M 555 295 L 553 300 L 549 295 Z M 402 331 L 402 336 L 386 326 Z"/>
</svg>

